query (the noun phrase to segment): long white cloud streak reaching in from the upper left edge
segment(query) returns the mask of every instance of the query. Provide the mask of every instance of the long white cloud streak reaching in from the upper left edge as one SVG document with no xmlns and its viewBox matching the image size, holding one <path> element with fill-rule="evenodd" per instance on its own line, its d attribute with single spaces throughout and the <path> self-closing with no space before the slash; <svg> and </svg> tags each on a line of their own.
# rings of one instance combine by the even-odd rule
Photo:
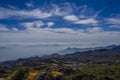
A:
<svg viewBox="0 0 120 80">
<path fill-rule="evenodd" d="M 37 18 L 37 19 L 45 19 L 52 14 L 41 11 L 40 9 L 33 9 L 33 10 L 13 10 L 13 9 L 6 9 L 6 8 L 0 8 L 0 18 L 1 19 L 7 19 L 10 17 L 17 17 L 17 18 Z M 14 18 L 13 18 L 14 19 Z"/>
</svg>

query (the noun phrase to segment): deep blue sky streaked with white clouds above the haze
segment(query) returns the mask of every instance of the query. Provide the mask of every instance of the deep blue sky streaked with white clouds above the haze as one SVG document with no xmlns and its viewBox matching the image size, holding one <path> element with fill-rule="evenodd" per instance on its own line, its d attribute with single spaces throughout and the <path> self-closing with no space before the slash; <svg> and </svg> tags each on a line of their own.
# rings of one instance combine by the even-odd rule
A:
<svg viewBox="0 0 120 80">
<path fill-rule="evenodd" d="M 118 45 L 119 4 L 120 0 L 0 0 L 1 49 L 27 43 Z"/>
</svg>

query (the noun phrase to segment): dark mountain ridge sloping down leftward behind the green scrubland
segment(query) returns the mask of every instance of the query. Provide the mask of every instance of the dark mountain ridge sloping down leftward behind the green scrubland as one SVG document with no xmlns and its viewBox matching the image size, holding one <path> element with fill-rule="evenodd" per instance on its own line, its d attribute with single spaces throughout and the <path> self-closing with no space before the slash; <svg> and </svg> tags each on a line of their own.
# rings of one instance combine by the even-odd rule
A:
<svg viewBox="0 0 120 80">
<path fill-rule="evenodd" d="M 61 53 L 60 53 L 61 52 Z M 62 54 L 62 55 L 61 55 Z M 63 55 L 64 54 L 64 55 Z M 41 64 L 59 64 L 66 62 L 78 63 L 116 63 L 120 62 L 120 45 L 111 45 L 107 47 L 96 48 L 67 48 L 52 55 L 42 57 L 30 57 L 12 61 L 1 62 L 1 66 L 36 66 Z"/>
</svg>

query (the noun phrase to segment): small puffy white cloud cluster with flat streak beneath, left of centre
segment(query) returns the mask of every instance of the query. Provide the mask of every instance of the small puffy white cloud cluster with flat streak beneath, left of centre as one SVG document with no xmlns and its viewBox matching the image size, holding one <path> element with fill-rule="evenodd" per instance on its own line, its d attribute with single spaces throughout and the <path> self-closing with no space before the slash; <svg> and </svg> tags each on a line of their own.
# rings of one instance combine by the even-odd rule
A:
<svg viewBox="0 0 120 80">
<path fill-rule="evenodd" d="M 41 21 L 39 21 L 41 23 Z M 36 27 L 36 25 L 40 25 L 38 21 L 35 22 L 26 22 L 26 23 L 21 23 L 20 25 L 23 25 L 26 27 L 26 31 L 28 32 L 55 32 L 55 33 L 76 33 L 75 30 L 72 28 L 51 28 L 51 26 L 54 25 L 53 22 L 48 22 L 46 28 L 41 28 L 41 27 Z M 43 24 L 43 23 L 42 23 Z M 44 24 L 45 25 L 45 24 Z M 43 26 L 43 25 L 40 25 Z"/>
</svg>

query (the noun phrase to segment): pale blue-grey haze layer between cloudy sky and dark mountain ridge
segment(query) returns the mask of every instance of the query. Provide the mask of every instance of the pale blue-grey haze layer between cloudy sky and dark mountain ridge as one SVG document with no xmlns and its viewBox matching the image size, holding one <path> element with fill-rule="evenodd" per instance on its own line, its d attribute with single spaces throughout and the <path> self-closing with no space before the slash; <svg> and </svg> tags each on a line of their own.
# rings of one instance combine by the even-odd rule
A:
<svg viewBox="0 0 120 80">
<path fill-rule="evenodd" d="M 68 47 L 91 48 L 109 45 L 113 44 L 82 44 L 79 42 L 1 43 L 0 61 L 49 55 Z"/>
</svg>

